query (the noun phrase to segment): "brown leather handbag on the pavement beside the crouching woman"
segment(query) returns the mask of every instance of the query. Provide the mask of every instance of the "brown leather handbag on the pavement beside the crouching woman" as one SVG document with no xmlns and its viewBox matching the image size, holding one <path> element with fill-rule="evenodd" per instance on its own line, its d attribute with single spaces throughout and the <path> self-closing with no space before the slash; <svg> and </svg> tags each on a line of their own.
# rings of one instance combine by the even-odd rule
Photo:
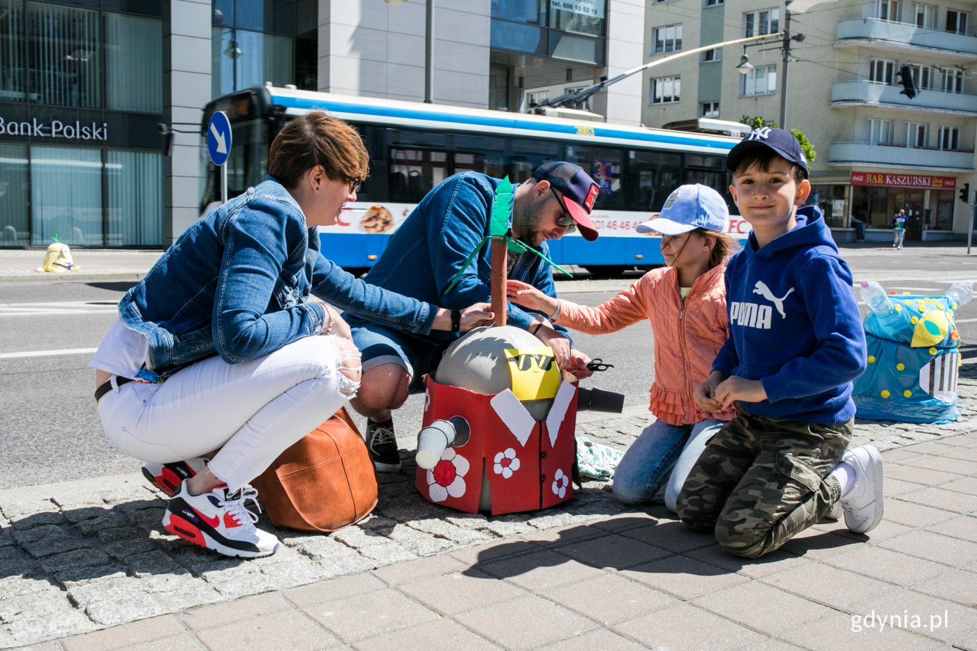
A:
<svg viewBox="0 0 977 651">
<path fill-rule="evenodd" d="M 376 507 L 373 462 L 345 408 L 282 452 L 251 485 L 272 521 L 291 529 L 336 531 Z"/>
</svg>

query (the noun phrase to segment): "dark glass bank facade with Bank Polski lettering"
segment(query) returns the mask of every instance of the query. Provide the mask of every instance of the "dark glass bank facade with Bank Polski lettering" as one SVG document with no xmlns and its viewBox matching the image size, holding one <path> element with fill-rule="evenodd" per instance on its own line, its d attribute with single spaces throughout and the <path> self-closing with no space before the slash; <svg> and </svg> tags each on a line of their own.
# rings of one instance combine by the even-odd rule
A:
<svg viewBox="0 0 977 651">
<path fill-rule="evenodd" d="M 162 246 L 159 0 L 0 0 L 0 247 Z"/>
</svg>

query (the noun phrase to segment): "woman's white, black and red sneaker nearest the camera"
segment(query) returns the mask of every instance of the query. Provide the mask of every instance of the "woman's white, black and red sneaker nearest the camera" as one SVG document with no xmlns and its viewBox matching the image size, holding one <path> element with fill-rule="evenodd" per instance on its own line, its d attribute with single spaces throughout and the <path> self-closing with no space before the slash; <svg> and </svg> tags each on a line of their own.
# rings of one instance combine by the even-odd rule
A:
<svg viewBox="0 0 977 651">
<path fill-rule="evenodd" d="M 258 491 L 250 486 L 234 493 L 227 486 L 211 493 L 191 495 L 187 482 L 166 504 L 163 528 L 194 545 L 226 556 L 268 556 L 278 549 L 278 539 L 254 526 L 258 515 L 244 507 L 250 500 L 258 507 Z"/>
</svg>

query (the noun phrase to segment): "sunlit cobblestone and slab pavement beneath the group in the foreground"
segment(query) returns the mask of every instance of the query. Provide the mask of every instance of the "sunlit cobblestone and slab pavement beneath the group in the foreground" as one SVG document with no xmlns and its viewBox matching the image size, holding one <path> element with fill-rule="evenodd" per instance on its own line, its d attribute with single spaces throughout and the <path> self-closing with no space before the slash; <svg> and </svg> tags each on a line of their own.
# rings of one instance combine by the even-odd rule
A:
<svg viewBox="0 0 977 651">
<path fill-rule="evenodd" d="M 65 637 L 46 648 L 155 648 L 170 637 L 181 648 L 187 640 L 190 648 L 420 646 L 396 632 L 412 627 L 432 647 L 534 648 L 576 635 L 574 646 L 598 648 L 628 640 L 678 648 L 683 639 L 739 647 L 799 627 L 846 646 L 977 648 L 977 369 L 962 370 L 956 423 L 857 425 L 853 445 L 889 451 L 887 519 L 870 538 L 819 525 L 760 561 L 721 553 L 660 507 L 626 510 L 601 482 L 531 513 L 437 507 L 414 489 L 409 459 L 381 475 L 380 502 L 357 526 L 297 535 L 262 518 L 283 545 L 250 561 L 161 532 L 163 501 L 138 473 L 3 491 L 0 646 Z M 577 433 L 624 449 L 649 419 L 643 409 L 581 414 Z M 399 442 L 408 455 L 414 442 Z M 914 443 L 922 444 L 896 449 Z M 260 596 L 241 599 L 249 595 Z M 776 621 L 752 605 L 768 598 L 781 604 Z M 194 610 L 206 604 L 220 605 Z M 926 618 L 947 610 L 963 628 L 845 637 L 839 622 L 871 604 Z M 157 617 L 172 613 L 180 615 Z M 271 618 L 269 628 L 255 627 L 259 616 Z M 240 631 L 227 638 L 225 625 Z M 773 637 L 808 646 L 795 633 Z"/>
</svg>

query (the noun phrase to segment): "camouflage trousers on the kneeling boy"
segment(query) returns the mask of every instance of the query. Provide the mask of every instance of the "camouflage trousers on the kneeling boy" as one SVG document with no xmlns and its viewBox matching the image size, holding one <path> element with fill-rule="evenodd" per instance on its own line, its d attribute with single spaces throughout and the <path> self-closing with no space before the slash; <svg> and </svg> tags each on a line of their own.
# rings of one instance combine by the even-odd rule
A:
<svg viewBox="0 0 977 651">
<path fill-rule="evenodd" d="M 758 558 L 837 501 L 840 486 L 828 473 L 848 447 L 854 419 L 820 425 L 738 412 L 689 472 L 678 516 L 692 529 L 714 531 L 730 553 Z"/>
</svg>

